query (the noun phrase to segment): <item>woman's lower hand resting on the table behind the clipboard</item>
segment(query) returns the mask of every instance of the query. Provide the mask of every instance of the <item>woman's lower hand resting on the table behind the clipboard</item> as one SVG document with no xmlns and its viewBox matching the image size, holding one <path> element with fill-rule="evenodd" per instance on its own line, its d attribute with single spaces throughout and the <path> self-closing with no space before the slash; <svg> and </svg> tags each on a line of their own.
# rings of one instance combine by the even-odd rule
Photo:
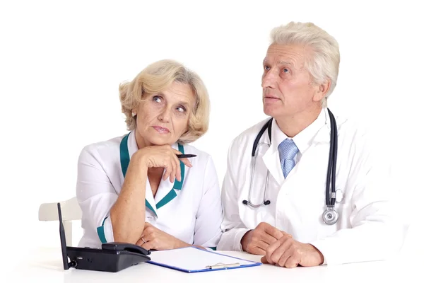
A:
<svg viewBox="0 0 424 283">
<path fill-rule="evenodd" d="M 188 243 L 171 236 L 152 226 L 148 222 L 144 224 L 143 234 L 136 245 L 146 250 L 170 250 L 174 248 L 184 248 L 191 246 Z"/>
</svg>

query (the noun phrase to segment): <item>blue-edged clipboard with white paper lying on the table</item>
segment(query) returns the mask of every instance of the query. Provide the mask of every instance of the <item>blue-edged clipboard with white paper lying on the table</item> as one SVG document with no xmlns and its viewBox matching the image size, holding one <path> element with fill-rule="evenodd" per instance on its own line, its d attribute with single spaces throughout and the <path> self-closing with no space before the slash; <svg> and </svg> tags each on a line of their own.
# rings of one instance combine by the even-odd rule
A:
<svg viewBox="0 0 424 283">
<path fill-rule="evenodd" d="M 196 247 L 154 250 L 149 257 L 151 260 L 146 263 L 187 273 L 232 270 L 262 264 Z"/>
</svg>

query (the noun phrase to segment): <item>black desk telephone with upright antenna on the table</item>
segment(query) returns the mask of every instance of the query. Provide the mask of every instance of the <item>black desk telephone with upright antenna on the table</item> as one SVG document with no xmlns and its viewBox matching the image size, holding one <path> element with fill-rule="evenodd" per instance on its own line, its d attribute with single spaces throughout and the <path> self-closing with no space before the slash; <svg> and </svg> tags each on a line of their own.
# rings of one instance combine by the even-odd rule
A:
<svg viewBox="0 0 424 283">
<path fill-rule="evenodd" d="M 151 254 L 150 250 L 131 243 L 103 243 L 102 248 L 67 247 L 60 203 L 57 204 L 57 209 L 64 270 L 75 267 L 80 270 L 118 272 L 131 265 L 151 260 L 148 257 Z M 68 262 L 68 258 L 71 260 L 70 262 Z"/>
</svg>

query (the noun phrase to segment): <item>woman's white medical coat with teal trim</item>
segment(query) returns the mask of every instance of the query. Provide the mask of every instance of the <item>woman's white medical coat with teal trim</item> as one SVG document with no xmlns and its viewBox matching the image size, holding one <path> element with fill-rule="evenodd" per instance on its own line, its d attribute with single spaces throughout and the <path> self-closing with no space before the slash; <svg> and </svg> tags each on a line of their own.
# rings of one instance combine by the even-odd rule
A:
<svg viewBox="0 0 424 283">
<path fill-rule="evenodd" d="M 78 246 L 99 248 L 100 238 L 114 241 L 109 214 L 124 183 L 119 154 L 123 137 L 90 144 L 81 151 L 76 197 L 83 212 L 81 226 L 84 231 Z M 178 149 L 177 144 L 172 147 Z M 133 131 L 128 137 L 129 156 L 137 150 Z M 146 221 L 186 243 L 216 248 L 222 235 L 220 224 L 223 220 L 216 168 L 211 156 L 194 146 L 184 145 L 184 153 L 197 156 L 190 158 L 192 168 L 184 166 L 181 190 L 173 189 L 168 178 L 161 180 L 153 197 L 150 184 L 146 182 L 146 200 L 154 210 L 146 207 Z M 156 208 L 155 204 L 170 190 L 175 190 L 177 196 Z"/>
</svg>

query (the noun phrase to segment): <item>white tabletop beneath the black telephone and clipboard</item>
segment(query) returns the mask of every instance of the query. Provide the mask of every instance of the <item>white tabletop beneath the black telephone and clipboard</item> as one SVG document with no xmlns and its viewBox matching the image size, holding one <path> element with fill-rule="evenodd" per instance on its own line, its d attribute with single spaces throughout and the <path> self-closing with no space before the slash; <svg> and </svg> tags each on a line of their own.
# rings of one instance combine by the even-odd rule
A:
<svg viewBox="0 0 424 283">
<path fill-rule="evenodd" d="M 260 256 L 247 253 L 221 252 L 246 260 L 260 262 Z M 390 279 L 396 283 L 424 282 L 424 262 L 401 257 L 396 260 L 360 262 L 337 266 L 296 267 L 287 269 L 273 265 L 260 265 L 235 270 L 185 273 L 143 262 L 120 272 L 94 272 L 64 270 L 59 248 L 39 248 L 30 256 L 21 258 L 14 267 L 1 272 L 1 282 L 378 282 Z M 12 278 L 3 281 L 5 276 Z M 10 277 L 11 276 L 11 277 Z M 6 278 L 7 278 L 6 277 Z M 19 280 L 19 281 L 18 281 Z"/>
</svg>

